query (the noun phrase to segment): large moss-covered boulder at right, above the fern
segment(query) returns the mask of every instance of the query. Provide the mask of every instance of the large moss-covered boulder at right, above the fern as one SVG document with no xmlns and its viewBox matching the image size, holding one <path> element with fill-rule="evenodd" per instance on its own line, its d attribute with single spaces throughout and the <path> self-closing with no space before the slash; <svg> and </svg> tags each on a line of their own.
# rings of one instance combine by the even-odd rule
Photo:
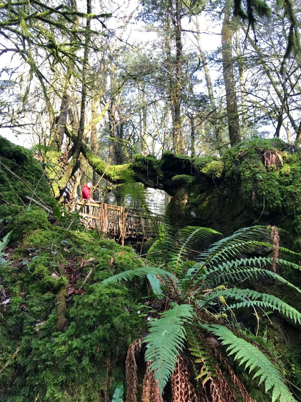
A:
<svg viewBox="0 0 301 402">
<path fill-rule="evenodd" d="M 256 224 L 277 225 L 301 251 L 301 152 L 278 138 L 246 140 L 222 158 L 195 157 L 191 176 L 175 176 L 169 207 L 176 228 L 207 226 L 230 234 Z"/>
</svg>

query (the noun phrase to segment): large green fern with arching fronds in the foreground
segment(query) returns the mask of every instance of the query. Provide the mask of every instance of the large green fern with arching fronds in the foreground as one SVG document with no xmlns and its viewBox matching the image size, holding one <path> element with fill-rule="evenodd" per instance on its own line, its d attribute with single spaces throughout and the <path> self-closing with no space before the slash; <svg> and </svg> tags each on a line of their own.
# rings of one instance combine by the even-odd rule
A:
<svg viewBox="0 0 301 402">
<path fill-rule="evenodd" d="M 177 240 L 171 242 L 168 231 L 168 241 L 163 242 L 161 239 L 160 242 L 161 246 L 164 246 L 164 267 L 142 267 L 119 273 L 103 281 L 104 284 L 116 283 L 136 276 L 147 276 L 156 295 L 176 301 L 169 302 L 171 308 L 161 314 L 158 320 L 150 323 L 150 334 L 145 338 L 148 343 L 145 357 L 152 362 L 150 370 L 154 372 L 161 393 L 175 369 L 185 338 L 196 365 L 201 364 L 198 378 L 203 384 L 206 381 L 211 381 L 211 386 L 215 383 L 214 375 L 220 371 L 217 370 L 218 366 L 210 353 L 211 346 L 204 341 L 206 335 L 198 332 L 199 328 L 203 328 L 219 336 L 222 345 L 228 346 L 227 353 L 234 354 L 240 364 L 245 363 L 253 378 L 259 378 L 259 384 L 265 383 L 266 392 L 271 391 L 273 401 L 278 401 L 277 398 L 280 402 L 294 401 L 280 373 L 268 358 L 254 345 L 238 338 L 222 325 L 226 319 L 228 326 L 229 321 L 225 314 L 228 311 L 233 314 L 232 310 L 235 308 L 256 306 L 275 310 L 301 324 L 301 314 L 281 299 L 267 293 L 235 287 L 235 284 L 242 283 L 245 279 L 262 277 L 277 280 L 301 293 L 297 286 L 270 271 L 273 266 L 272 258 L 240 257 L 242 252 L 252 252 L 262 246 L 272 250 L 273 244 L 261 241 L 267 233 L 267 228 L 263 226 L 240 229 L 212 244 L 201 253 L 195 263 L 188 259 L 189 249 L 195 242 L 212 234 L 218 235 L 218 232 L 189 227 L 181 231 Z M 289 251 L 284 248 L 281 250 Z M 277 263 L 290 269 L 300 269 L 299 265 L 283 259 L 278 259 Z M 159 282 L 165 286 L 161 287 Z M 167 291 L 165 295 L 164 291 Z M 204 318 L 205 322 L 214 322 L 214 325 L 202 325 L 200 318 Z M 190 320 L 191 324 L 187 326 Z M 184 326 L 187 327 L 186 332 Z M 196 326 L 199 326 L 198 329 Z"/>
</svg>

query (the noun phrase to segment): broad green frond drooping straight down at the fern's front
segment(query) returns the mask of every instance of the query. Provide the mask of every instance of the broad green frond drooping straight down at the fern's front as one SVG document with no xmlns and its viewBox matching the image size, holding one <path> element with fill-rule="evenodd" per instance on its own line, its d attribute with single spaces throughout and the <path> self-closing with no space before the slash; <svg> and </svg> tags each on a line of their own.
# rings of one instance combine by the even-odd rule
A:
<svg viewBox="0 0 301 402">
<path fill-rule="evenodd" d="M 190 304 L 179 306 L 171 302 L 171 306 L 170 310 L 161 314 L 159 320 L 150 323 L 150 334 L 143 340 L 148 344 L 145 360 L 152 362 L 150 371 L 155 372 L 154 377 L 158 381 L 161 395 L 184 345 L 184 324 L 193 318 L 193 308 Z"/>
</svg>

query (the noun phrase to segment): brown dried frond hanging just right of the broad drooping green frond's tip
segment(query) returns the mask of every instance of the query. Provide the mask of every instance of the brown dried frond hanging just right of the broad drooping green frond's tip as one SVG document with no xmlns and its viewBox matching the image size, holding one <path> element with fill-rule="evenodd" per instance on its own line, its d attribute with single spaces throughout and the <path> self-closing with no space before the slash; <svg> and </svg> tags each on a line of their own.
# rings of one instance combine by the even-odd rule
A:
<svg viewBox="0 0 301 402">
<path fill-rule="evenodd" d="M 190 381 L 189 360 L 178 356 L 178 363 L 171 376 L 171 402 L 199 402 Z"/>
</svg>

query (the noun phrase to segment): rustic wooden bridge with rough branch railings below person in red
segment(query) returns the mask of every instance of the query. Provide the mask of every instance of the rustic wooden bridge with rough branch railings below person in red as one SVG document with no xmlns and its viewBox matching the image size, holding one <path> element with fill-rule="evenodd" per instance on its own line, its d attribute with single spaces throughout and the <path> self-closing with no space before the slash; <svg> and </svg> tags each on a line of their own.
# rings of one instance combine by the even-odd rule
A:
<svg viewBox="0 0 301 402">
<path fill-rule="evenodd" d="M 128 209 L 104 202 L 77 201 L 75 209 L 87 226 L 115 240 L 120 239 L 122 244 L 124 240 L 143 241 L 157 236 L 155 226 L 159 227 L 164 218 L 162 214 L 145 209 Z"/>
</svg>

